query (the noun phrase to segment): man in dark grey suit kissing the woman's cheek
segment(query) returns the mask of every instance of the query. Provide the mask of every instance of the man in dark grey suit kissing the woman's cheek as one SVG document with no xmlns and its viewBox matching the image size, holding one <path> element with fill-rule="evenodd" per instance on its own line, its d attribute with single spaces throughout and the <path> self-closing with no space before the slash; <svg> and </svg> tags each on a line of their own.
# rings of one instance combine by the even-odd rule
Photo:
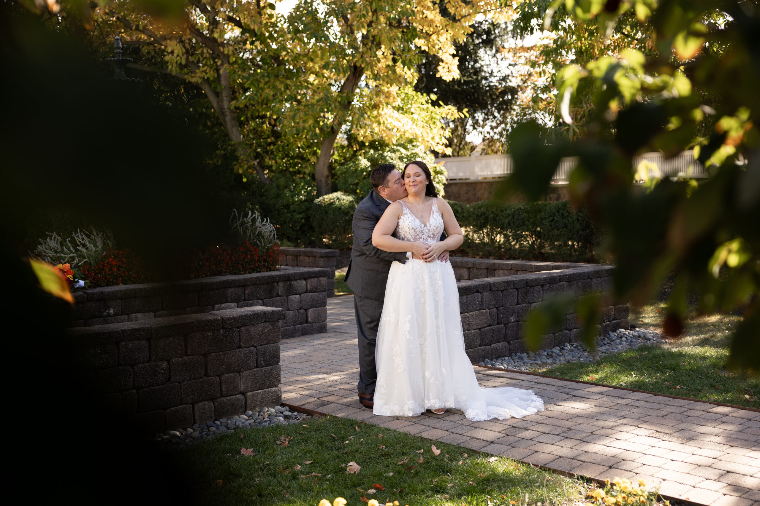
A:
<svg viewBox="0 0 760 506">
<path fill-rule="evenodd" d="M 406 263 L 412 253 L 388 253 L 372 246 L 372 231 L 391 203 L 407 196 L 407 188 L 401 172 L 391 163 L 372 169 L 369 174 L 372 191 L 353 212 L 353 249 L 346 272 L 346 283 L 353 290 L 353 311 L 356 314 L 356 330 L 359 337 L 359 402 L 364 407 L 374 406 L 375 339 L 380 323 L 385 284 L 393 262 Z M 438 257 L 448 260 L 448 251 Z"/>
</svg>

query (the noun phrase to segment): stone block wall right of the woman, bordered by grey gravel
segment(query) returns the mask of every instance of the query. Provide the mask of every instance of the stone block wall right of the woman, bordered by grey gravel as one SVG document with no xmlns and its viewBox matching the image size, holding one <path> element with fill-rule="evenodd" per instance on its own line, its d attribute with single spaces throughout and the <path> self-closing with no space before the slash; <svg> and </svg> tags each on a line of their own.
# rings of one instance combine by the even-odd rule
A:
<svg viewBox="0 0 760 506">
<path fill-rule="evenodd" d="M 613 266 L 583 266 L 548 272 L 459 281 L 459 306 L 464 346 L 473 363 L 526 351 L 522 325 L 530 309 L 557 294 L 601 294 L 599 332 L 629 328 L 629 306 L 613 306 Z M 578 342 L 580 325 L 570 314 L 558 328 L 543 336 L 541 349 Z"/>
</svg>

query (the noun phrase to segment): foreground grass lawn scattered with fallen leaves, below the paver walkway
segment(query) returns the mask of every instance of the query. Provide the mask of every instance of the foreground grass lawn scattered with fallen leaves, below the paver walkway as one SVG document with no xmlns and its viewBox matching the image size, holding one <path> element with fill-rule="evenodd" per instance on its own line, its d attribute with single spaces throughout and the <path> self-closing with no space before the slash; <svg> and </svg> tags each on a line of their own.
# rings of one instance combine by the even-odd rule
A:
<svg viewBox="0 0 760 506">
<path fill-rule="evenodd" d="M 283 436 L 292 438 L 287 447 L 277 444 Z M 441 454 L 433 454 L 432 444 Z M 241 448 L 255 454 L 242 455 Z M 316 506 L 344 497 L 350 506 L 366 504 L 361 498 L 367 497 L 401 506 L 548 506 L 580 501 L 591 487 L 508 458 L 490 462 L 489 454 L 334 417 L 236 430 L 175 455 L 199 504 Z M 347 473 L 352 461 L 361 467 L 358 474 Z M 378 492 L 365 495 L 373 486 Z"/>
</svg>

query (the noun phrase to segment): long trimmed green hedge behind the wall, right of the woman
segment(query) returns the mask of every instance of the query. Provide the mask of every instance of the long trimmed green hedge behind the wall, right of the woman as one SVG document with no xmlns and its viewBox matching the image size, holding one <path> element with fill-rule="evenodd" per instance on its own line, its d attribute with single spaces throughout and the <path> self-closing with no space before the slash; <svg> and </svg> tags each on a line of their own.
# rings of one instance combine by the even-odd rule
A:
<svg viewBox="0 0 760 506">
<path fill-rule="evenodd" d="M 598 262 L 601 231 L 568 202 L 450 202 L 468 256 L 550 262 Z"/>
</svg>

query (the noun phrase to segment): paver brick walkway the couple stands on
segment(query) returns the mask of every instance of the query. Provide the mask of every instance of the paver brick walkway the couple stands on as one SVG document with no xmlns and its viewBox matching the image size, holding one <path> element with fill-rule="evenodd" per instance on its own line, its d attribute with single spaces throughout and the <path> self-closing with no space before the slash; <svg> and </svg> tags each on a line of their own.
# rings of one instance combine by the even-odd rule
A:
<svg viewBox="0 0 760 506">
<path fill-rule="evenodd" d="M 760 413 L 475 366 L 485 387 L 530 388 L 546 410 L 471 422 L 461 411 L 375 416 L 356 397 L 353 297 L 328 332 L 282 341 L 283 402 L 594 478 L 644 479 L 701 504 L 760 504 Z"/>
</svg>

